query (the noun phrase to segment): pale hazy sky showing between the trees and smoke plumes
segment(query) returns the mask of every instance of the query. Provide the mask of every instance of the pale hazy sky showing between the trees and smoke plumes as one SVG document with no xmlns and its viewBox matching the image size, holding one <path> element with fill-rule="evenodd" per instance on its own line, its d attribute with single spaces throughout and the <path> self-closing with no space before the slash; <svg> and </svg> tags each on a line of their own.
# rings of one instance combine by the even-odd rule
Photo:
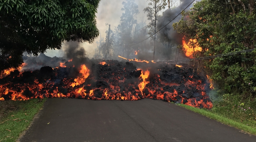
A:
<svg viewBox="0 0 256 142">
<path fill-rule="evenodd" d="M 94 43 L 89 44 L 87 42 L 85 43 L 80 43 L 83 48 L 85 48 L 86 51 L 86 56 L 89 58 L 93 58 L 93 55 L 95 53 L 95 48 L 97 47 L 96 41 L 100 40 L 101 38 L 105 38 L 106 34 L 105 31 L 108 30 L 108 25 L 106 26 L 105 24 L 108 23 L 111 25 L 111 29 L 115 29 L 115 27 L 118 26 L 120 22 L 120 17 L 123 13 L 121 11 L 121 8 L 123 7 L 122 2 L 126 0 L 101 0 L 99 8 L 98 8 L 98 13 L 96 13 L 96 20 L 97 20 L 97 28 L 100 30 L 101 35 L 95 40 Z M 175 0 L 174 0 L 175 1 Z M 183 0 L 184 1 L 184 0 Z M 190 0 L 188 0 L 190 1 Z M 192 1 L 192 0 L 191 0 Z M 137 17 L 135 17 L 138 22 L 141 21 L 143 18 L 144 20 L 147 19 L 147 13 L 143 12 L 143 9 L 148 6 L 148 1 L 147 0 L 135 0 L 135 3 L 138 5 L 139 9 L 139 14 Z M 180 4 L 180 0 L 177 0 L 175 3 L 176 5 Z M 148 21 L 146 22 L 148 23 Z M 172 25 L 172 24 L 170 24 Z M 65 44 L 63 44 L 65 46 Z M 62 57 L 64 56 L 64 51 L 61 50 L 47 50 L 47 53 L 45 55 L 53 57 Z"/>
</svg>

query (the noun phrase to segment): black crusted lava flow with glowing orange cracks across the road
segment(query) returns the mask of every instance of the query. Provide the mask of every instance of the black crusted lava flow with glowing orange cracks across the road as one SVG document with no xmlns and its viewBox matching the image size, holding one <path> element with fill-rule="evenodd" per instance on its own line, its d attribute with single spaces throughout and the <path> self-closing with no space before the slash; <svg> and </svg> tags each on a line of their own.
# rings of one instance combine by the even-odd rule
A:
<svg viewBox="0 0 256 142">
<path fill-rule="evenodd" d="M 158 71 L 136 69 L 133 63 L 93 60 L 77 67 L 42 67 L 11 72 L 0 79 L 0 100 L 67 97 L 92 100 L 172 101 L 212 108 L 209 84 L 191 68 L 162 64 Z"/>
</svg>

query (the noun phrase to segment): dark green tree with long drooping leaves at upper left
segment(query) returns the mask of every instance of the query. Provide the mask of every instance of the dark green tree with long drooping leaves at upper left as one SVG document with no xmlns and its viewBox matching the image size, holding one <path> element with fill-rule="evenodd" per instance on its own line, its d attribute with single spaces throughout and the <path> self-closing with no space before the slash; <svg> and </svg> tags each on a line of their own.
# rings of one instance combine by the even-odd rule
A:
<svg viewBox="0 0 256 142">
<path fill-rule="evenodd" d="M 63 41 L 93 42 L 100 0 L 0 0 L 0 71 L 17 68 L 22 53 L 61 49 Z"/>
</svg>

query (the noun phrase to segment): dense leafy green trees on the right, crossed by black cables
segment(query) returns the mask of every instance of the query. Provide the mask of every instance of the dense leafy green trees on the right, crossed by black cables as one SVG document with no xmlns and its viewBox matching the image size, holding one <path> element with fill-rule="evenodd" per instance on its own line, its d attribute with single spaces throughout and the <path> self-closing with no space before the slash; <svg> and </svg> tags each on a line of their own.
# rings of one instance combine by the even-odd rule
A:
<svg viewBox="0 0 256 142">
<path fill-rule="evenodd" d="M 256 46 L 254 0 L 202 0 L 183 13 L 174 29 L 202 47 L 198 56 L 212 56 L 253 49 Z M 256 97 L 256 52 L 198 62 L 221 89 L 244 98 Z M 205 68 L 204 68 L 205 67 Z"/>
</svg>

